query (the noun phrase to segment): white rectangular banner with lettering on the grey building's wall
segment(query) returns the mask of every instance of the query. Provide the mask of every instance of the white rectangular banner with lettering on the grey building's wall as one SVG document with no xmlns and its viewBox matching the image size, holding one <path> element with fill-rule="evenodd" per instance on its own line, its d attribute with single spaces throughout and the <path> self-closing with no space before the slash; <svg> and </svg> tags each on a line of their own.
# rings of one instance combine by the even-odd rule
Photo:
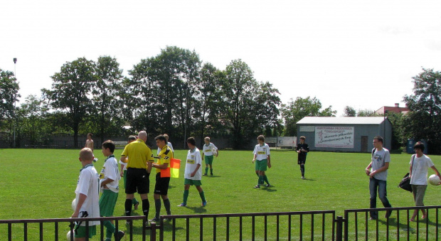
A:
<svg viewBox="0 0 441 241">
<path fill-rule="evenodd" d="M 354 148 L 354 127 L 315 127 L 315 147 Z"/>
</svg>

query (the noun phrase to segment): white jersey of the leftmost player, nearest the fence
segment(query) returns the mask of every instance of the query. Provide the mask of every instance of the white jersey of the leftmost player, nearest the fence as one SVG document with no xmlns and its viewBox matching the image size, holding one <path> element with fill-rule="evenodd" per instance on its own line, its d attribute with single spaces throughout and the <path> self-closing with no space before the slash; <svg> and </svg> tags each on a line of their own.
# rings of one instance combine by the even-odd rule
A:
<svg viewBox="0 0 441 241">
<path fill-rule="evenodd" d="M 75 200 L 77 202 L 80 200 L 80 194 L 87 196 L 87 198 L 80 208 L 80 217 L 83 215 L 82 212 L 87 212 L 87 218 L 100 218 L 100 186 L 98 185 L 98 173 L 95 167 L 88 164 L 81 168 L 75 189 Z M 75 207 L 76 205 L 75 202 Z M 81 223 L 81 226 L 85 225 L 85 222 Z M 89 222 L 89 225 L 100 225 L 100 221 Z"/>
</svg>

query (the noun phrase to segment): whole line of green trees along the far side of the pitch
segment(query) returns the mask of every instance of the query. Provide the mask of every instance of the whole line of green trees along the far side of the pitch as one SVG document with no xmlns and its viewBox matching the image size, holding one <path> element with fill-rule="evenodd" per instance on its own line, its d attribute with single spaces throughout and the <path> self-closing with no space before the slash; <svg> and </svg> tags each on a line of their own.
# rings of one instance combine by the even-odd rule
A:
<svg viewBox="0 0 441 241">
<path fill-rule="evenodd" d="M 51 135 L 69 133 L 74 145 L 80 147 L 79 134 L 92 132 L 104 141 L 105 136 L 146 130 L 152 136 L 167 133 L 182 142 L 188 136 L 225 136 L 233 148 L 241 149 L 244 139 L 258 134 L 296 136 L 296 123 L 303 117 L 336 114 L 331 106 L 322 107 L 317 97 L 282 103 L 280 92 L 270 82 L 255 80 L 253 70 L 240 59 L 219 70 L 203 62 L 194 50 L 176 46 L 140 60 L 128 71 L 129 76 L 122 72 L 117 59 L 110 56 L 96 61 L 78 58 L 51 76 L 51 89 L 42 89 L 41 96 L 29 95 L 14 107 L 20 97 L 18 82 L 14 73 L 0 69 L 0 111 L 4 113 L 0 132 L 9 136 L 10 146 L 14 146 L 11 136 L 15 126 L 16 146 L 23 139 L 34 145 L 50 144 Z M 435 100 L 441 94 L 440 73 L 425 69 L 423 73 L 414 77 L 415 95 L 404 97 L 412 112 L 396 118 L 388 113 L 397 146 L 403 145 L 407 136 L 429 139 L 420 135 L 425 132 L 418 127 L 404 127 L 404 118 L 413 118 L 412 123 L 418 126 L 423 120 L 417 117 L 421 117 L 432 123 L 430 127 L 440 127 L 440 102 Z M 430 73 L 432 78 L 428 78 Z M 433 90 L 433 95 L 417 92 L 430 81 L 435 86 L 427 89 Z M 426 99 L 437 103 L 437 109 L 433 105 L 423 108 L 420 102 Z M 345 110 L 345 115 L 350 114 Z M 437 133 L 430 136 L 431 141 L 441 139 Z"/>
</svg>

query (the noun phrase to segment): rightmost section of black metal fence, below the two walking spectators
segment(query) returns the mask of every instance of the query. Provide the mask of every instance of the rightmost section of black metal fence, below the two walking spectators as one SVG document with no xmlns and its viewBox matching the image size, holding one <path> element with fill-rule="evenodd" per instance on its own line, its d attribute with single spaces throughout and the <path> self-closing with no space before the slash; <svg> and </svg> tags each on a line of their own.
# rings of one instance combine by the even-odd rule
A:
<svg viewBox="0 0 441 241">
<path fill-rule="evenodd" d="M 344 240 L 439 240 L 441 206 L 408 208 L 348 209 L 344 211 Z M 410 221 L 414 210 L 423 209 L 427 217 Z M 386 218 L 386 212 L 392 211 Z M 370 220 L 369 212 L 378 211 L 378 219 Z M 384 214 L 385 218 L 380 218 Z"/>
</svg>

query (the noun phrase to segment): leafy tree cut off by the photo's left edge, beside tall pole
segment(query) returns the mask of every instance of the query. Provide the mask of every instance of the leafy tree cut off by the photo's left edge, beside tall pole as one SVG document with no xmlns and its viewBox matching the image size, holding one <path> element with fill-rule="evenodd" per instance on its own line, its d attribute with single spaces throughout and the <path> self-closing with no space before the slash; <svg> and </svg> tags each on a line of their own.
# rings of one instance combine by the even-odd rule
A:
<svg viewBox="0 0 441 241">
<path fill-rule="evenodd" d="M 5 118 L 14 117 L 14 103 L 20 97 L 19 89 L 14 73 L 0 69 L 0 124 Z"/>
</svg>

